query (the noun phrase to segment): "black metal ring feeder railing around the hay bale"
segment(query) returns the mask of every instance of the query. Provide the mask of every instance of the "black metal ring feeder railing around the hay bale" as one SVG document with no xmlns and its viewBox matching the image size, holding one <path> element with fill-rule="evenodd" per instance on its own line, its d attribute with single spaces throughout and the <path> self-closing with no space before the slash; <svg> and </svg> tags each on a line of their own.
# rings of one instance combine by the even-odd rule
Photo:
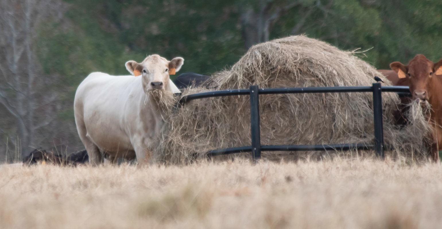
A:
<svg viewBox="0 0 442 229">
<path fill-rule="evenodd" d="M 259 132 L 259 95 L 260 94 L 301 94 L 301 93 L 342 93 L 342 92 L 372 92 L 374 113 L 374 142 L 329 144 L 329 145 L 282 145 L 263 146 Z M 334 86 L 334 87 L 292 87 L 292 88 L 264 88 L 250 86 L 249 89 L 234 89 L 209 91 L 184 96 L 179 101 L 180 105 L 188 101 L 201 98 L 249 95 L 250 96 L 250 126 L 251 146 L 234 147 L 220 150 L 211 150 L 207 156 L 226 155 L 235 153 L 251 152 L 253 160 L 261 158 L 261 151 L 325 151 L 325 150 L 376 150 L 380 158 L 384 158 L 384 130 L 382 126 L 382 92 L 396 92 L 400 96 L 410 93 L 408 86 L 381 86 L 381 83 L 373 83 L 373 86 Z"/>
</svg>

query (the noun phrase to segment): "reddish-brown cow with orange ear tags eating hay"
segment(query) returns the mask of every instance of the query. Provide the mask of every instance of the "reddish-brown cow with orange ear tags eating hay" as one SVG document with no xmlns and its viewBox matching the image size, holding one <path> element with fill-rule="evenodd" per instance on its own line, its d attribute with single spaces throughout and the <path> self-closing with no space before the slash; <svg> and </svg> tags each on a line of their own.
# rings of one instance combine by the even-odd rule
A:
<svg viewBox="0 0 442 229">
<path fill-rule="evenodd" d="M 390 64 L 390 68 L 397 73 L 400 79 L 397 82 L 407 82 L 404 86 L 410 87 L 414 101 L 431 104 L 427 117 L 434 127 L 430 155 L 434 161 L 439 161 L 438 150 L 442 150 L 442 60 L 434 64 L 418 54 L 408 65 L 396 61 Z"/>
</svg>

